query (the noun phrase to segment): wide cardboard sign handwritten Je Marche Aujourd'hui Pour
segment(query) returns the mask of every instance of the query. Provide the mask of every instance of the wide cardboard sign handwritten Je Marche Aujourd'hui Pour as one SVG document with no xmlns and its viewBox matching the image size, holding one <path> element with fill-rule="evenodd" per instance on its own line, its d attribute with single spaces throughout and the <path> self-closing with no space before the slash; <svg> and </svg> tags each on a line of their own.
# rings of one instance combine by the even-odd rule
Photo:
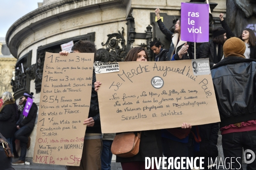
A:
<svg viewBox="0 0 256 170">
<path fill-rule="evenodd" d="M 191 60 L 119 62 L 119 69 L 96 74 L 102 133 L 220 122 L 211 74 L 194 76 Z"/>
</svg>

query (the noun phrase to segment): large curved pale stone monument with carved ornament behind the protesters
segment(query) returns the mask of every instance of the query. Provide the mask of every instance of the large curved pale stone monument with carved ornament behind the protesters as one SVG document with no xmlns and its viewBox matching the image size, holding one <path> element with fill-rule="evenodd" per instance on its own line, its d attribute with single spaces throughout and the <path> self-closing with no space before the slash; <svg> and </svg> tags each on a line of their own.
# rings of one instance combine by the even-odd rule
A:
<svg viewBox="0 0 256 170">
<path fill-rule="evenodd" d="M 93 41 L 98 49 L 97 60 L 103 62 L 123 61 L 131 46 L 138 45 L 147 48 L 150 59 L 154 59 L 149 42 L 158 38 L 165 48 L 170 45 L 157 26 L 155 8 L 160 8 L 163 23 L 171 28 L 173 20 L 180 16 L 180 4 L 188 1 L 44 0 L 41 7 L 17 20 L 6 34 L 6 44 L 17 58 L 15 77 L 19 78 L 15 79 L 15 99 L 29 91 L 34 93 L 34 102 L 39 105 L 45 51 L 58 53 L 60 45 L 71 40 Z M 205 0 L 190 1 L 204 3 Z M 218 15 L 225 14 L 226 0 L 209 0 L 209 3 L 213 28 L 219 25 Z M 34 129 L 32 144 L 35 132 Z M 27 157 L 33 156 L 33 147 Z"/>
</svg>

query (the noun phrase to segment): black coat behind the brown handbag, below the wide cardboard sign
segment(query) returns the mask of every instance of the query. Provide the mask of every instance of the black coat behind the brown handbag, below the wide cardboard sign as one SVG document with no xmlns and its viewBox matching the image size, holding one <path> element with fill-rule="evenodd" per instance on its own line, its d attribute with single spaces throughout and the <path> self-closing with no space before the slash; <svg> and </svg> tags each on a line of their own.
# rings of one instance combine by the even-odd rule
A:
<svg viewBox="0 0 256 170">
<path fill-rule="evenodd" d="M 137 135 L 137 132 L 136 132 Z M 160 130 L 142 131 L 140 137 L 139 153 L 130 158 L 121 158 L 116 156 L 116 162 L 145 161 L 145 157 L 162 157 L 162 141 Z"/>
</svg>

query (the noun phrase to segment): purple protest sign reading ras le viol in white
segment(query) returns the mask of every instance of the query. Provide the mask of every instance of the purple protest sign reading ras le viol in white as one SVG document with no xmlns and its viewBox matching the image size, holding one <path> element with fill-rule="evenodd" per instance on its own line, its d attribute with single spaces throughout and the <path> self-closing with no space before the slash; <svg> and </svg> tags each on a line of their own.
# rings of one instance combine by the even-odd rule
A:
<svg viewBox="0 0 256 170">
<path fill-rule="evenodd" d="M 209 41 L 209 4 L 181 3 L 180 38 L 188 42 Z"/>
</svg>

